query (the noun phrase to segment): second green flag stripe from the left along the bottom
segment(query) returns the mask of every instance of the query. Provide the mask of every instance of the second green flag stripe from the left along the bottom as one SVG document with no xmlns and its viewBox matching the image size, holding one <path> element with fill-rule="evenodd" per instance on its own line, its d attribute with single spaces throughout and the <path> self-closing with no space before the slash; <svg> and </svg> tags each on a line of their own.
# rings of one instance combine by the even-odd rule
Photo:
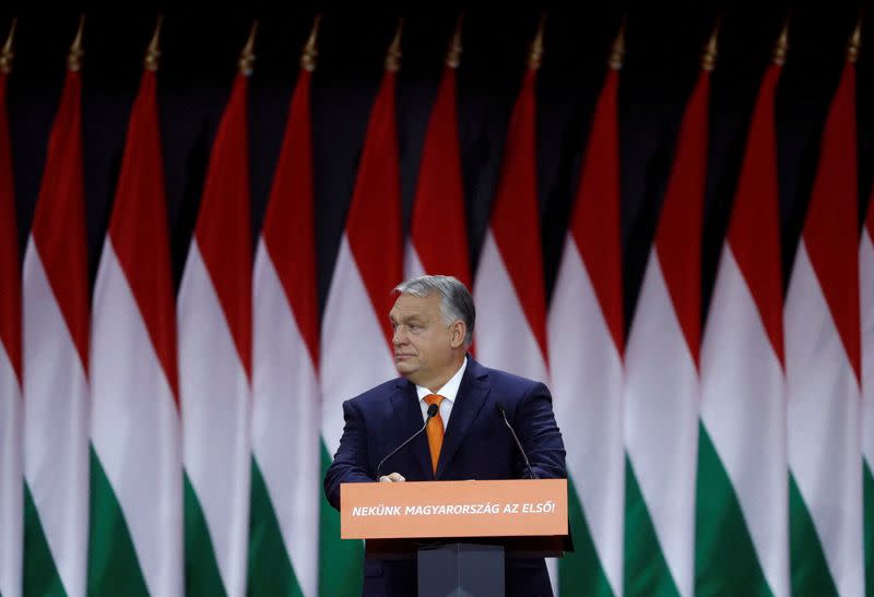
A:
<svg viewBox="0 0 874 597">
<path fill-rule="evenodd" d="M 149 595 L 121 505 L 93 445 L 90 452 L 88 595 Z"/>
</svg>

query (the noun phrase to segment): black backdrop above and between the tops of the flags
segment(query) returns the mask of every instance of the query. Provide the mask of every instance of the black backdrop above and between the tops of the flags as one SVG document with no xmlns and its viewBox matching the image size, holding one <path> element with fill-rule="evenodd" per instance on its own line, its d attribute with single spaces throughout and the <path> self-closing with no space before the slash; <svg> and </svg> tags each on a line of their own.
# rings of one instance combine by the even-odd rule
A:
<svg viewBox="0 0 874 597">
<path fill-rule="evenodd" d="M 761 3 L 760 3 L 761 4 Z M 398 140 L 404 229 L 418 162 L 457 8 L 406 13 L 398 83 Z M 488 223 L 501 150 L 540 11 L 466 10 L 458 71 L 458 110 L 470 259 L 475 272 Z M 621 74 L 622 240 L 626 329 L 663 198 L 680 120 L 699 72 L 701 48 L 721 15 L 712 76 L 708 156 L 704 309 L 725 232 L 748 119 L 786 5 L 721 10 L 582 4 L 550 11 L 538 82 L 538 186 L 547 297 L 576 192 L 591 111 L 610 46 L 626 15 Z M 870 12 L 870 11 L 869 11 Z M 324 10 L 314 75 L 318 292 L 323 306 L 352 198 L 355 170 L 399 12 Z M 315 11 L 262 16 L 250 80 L 249 160 L 253 239 L 261 226 L 284 132 L 299 53 Z M 777 138 L 784 283 L 803 224 L 826 111 L 859 17 L 853 3 L 794 9 L 790 49 L 777 94 Z M 79 14 L 19 19 L 9 79 L 9 118 L 19 219 L 24 243 Z M 93 283 L 109 219 L 130 107 L 154 13 L 87 14 L 83 122 L 88 259 Z M 0 17 L 5 37 L 11 17 Z M 174 273 L 178 285 L 197 217 L 213 135 L 227 100 L 252 16 L 167 13 L 162 36 L 160 110 Z M 864 213 L 874 168 L 874 28 L 866 20 L 858 62 L 859 202 Z M 704 321 L 704 319 L 702 319 Z"/>
</svg>

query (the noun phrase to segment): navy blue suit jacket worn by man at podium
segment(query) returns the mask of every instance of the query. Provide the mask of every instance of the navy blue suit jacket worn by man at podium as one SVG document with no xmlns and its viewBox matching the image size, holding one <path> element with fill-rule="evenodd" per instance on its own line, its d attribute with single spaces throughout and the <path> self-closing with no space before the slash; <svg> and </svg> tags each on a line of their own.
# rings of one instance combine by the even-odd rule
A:
<svg viewBox="0 0 874 597">
<path fill-rule="evenodd" d="M 488 369 L 470 356 L 444 435 L 436 474 L 425 433 L 392 456 L 382 475 L 409 481 L 518 479 L 528 470 L 496 410 L 500 403 L 538 478 L 566 478 L 565 446 L 543 383 Z M 422 428 L 415 385 L 398 378 L 343 403 L 345 427 L 324 476 L 328 501 L 340 510 L 340 483 L 374 482 L 386 455 Z M 507 560 L 507 595 L 551 595 L 543 559 Z M 415 595 L 415 561 L 365 560 L 365 595 Z"/>
</svg>

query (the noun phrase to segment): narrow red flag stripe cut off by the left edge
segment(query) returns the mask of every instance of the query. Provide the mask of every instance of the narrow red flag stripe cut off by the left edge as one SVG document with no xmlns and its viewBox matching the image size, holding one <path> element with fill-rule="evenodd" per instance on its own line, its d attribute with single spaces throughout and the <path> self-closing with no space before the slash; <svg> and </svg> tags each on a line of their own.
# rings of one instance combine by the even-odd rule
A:
<svg viewBox="0 0 874 597">
<path fill-rule="evenodd" d="M 21 270 L 15 188 L 7 116 L 7 75 L 0 72 L 0 343 L 21 380 Z"/>
</svg>

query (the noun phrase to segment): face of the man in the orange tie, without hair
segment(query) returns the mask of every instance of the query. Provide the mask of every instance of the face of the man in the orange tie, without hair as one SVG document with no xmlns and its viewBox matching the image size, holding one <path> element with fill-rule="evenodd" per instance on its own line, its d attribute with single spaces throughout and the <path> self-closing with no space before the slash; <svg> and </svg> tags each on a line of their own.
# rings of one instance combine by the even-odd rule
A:
<svg viewBox="0 0 874 597">
<path fill-rule="evenodd" d="M 394 329 L 394 367 L 413 383 L 435 390 L 452 377 L 464 337 L 463 324 L 447 325 L 439 295 L 401 295 L 389 313 Z M 462 349 L 463 350 L 463 349 Z"/>
</svg>

